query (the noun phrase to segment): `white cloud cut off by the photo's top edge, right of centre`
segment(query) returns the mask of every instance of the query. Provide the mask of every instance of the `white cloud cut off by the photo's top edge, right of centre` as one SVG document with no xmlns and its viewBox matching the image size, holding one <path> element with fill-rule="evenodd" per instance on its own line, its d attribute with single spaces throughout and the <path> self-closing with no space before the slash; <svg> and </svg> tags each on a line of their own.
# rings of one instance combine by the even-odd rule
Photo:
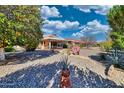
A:
<svg viewBox="0 0 124 93">
<path fill-rule="evenodd" d="M 107 5 L 77 5 L 74 7 L 79 9 L 80 11 L 83 11 L 86 13 L 90 13 L 91 9 L 93 9 L 93 10 L 95 10 L 95 13 L 97 13 L 97 14 L 106 15 L 112 6 L 107 6 Z"/>
</svg>

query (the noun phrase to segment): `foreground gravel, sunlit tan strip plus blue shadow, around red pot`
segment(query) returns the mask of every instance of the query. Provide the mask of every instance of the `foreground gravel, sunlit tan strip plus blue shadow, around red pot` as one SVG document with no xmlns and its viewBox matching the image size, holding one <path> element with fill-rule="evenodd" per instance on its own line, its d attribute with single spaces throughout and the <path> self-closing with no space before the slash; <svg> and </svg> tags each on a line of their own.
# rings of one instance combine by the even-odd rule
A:
<svg viewBox="0 0 124 93">
<path fill-rule="evenodd" d="M 58 88 L 60 71 L 62 69 L 62 63 L 60 62 L 62 56 L 59 53 L 41 59 L 26 60 L 26 62 L 20 64 L 0 66 L 0 87 Z M 87 62 L 84 61 L 76 56 L 69 57 L 69 62 L 71 63 L 69 68 L 71 71 L 70 78 L 73 88 L 122 87 L 106 79 L 102 75 L 103 68 L 101 68 L 101 71 L 98 71 L 100 67 L 98 67 L 98 70 L 95 70 L 96 65 L 86 65 Z M 77 69 L 75 69 L 75 65 L 78 66 Z"/>
</svg>

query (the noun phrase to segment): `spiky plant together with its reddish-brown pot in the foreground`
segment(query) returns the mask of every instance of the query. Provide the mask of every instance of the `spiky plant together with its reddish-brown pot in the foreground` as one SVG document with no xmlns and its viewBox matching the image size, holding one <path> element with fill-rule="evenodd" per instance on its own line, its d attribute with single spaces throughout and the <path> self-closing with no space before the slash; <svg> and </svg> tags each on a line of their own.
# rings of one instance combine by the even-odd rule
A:
<svg viewBox="0 0 124 93">
<path fill-rule="evenodd" d="M 69 70 L 69 63 L 68 63 L 68 56 L 66 56 L 63 61 L 63 68 L 61 71 L 61 77 L 60 77 L 60 87 L 61 88 L 70 88 L 71 87 L 71 81 L 70 81 L 70 70 Z"/>
</svg>

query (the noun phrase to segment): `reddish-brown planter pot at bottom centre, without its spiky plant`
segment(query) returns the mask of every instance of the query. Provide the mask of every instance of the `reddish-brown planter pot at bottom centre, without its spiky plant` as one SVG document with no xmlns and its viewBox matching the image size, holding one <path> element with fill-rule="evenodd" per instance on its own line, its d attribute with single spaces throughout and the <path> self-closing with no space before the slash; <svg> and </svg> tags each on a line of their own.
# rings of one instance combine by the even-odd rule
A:
<svg viewBox="0 0 124 93">
<path fill-rule="evenodd" d="M 60 87 L 61 88 L 71 88 L 69 69 L 65 69 L 65 70 L 61 71 Z"/>
</svg>

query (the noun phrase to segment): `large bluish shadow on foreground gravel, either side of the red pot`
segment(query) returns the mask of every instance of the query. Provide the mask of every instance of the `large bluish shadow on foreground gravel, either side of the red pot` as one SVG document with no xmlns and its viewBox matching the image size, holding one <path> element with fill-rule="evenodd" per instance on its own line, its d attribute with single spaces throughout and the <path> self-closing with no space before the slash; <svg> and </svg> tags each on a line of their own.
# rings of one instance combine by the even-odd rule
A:
<svg viewBox="0 0 124 93">
<path fill-rule="evenodd" d="M 60 71 L 63 63 L 53 63 L 25 68 L 0 78 L 1 88 L 59 88 Z M 70 65 L 70 79 L 73 88 L 116 88 L 113 81 L 98 74 Z"/>
</svg>

